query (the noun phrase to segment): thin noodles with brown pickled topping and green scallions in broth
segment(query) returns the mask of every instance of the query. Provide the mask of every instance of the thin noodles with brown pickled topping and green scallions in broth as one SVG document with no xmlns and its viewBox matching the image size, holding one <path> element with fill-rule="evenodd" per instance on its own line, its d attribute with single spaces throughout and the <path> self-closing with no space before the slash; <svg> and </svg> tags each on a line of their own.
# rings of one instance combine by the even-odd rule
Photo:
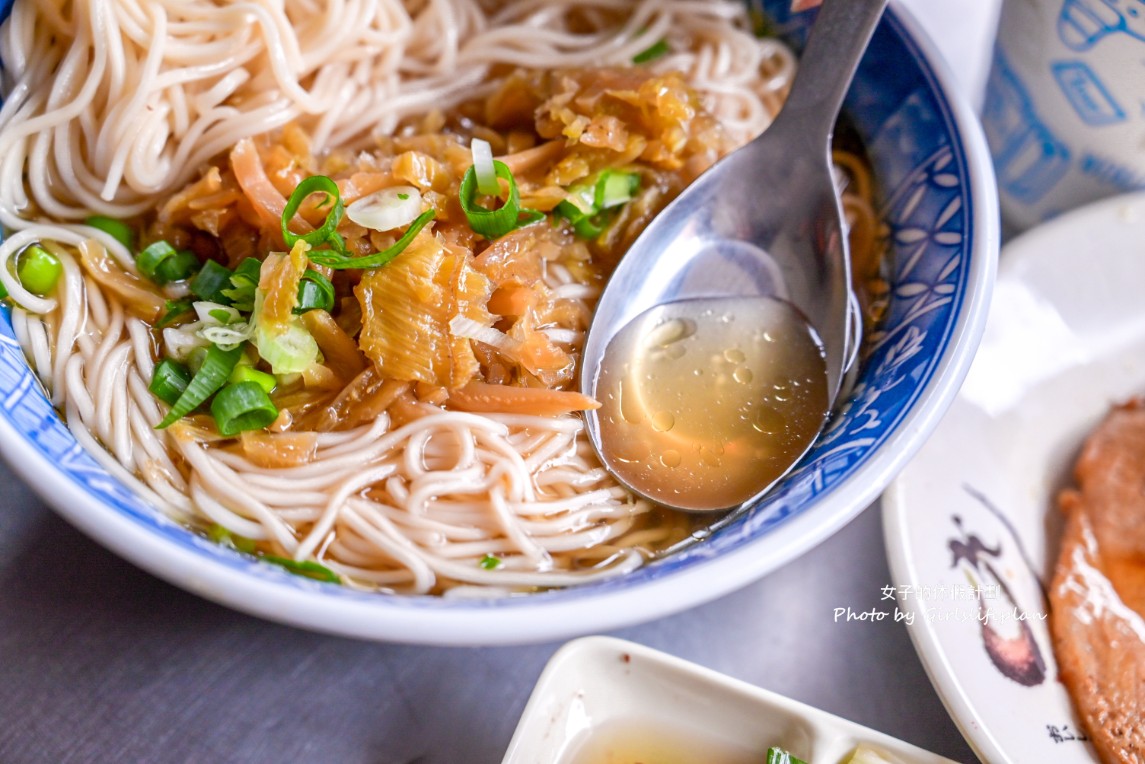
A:
<svg viewBox="0 0 1145 764">
<path fill-rule="evenodd" d="M 787 48 L 732 2 L 148 8 L 17 3 L 0 46 L 0 282 L 112 474 L 365 590 L 563 586 L 692 538 L 594 460 L 578 349 L 647 221 L 766 127 Z"/>
</svg>

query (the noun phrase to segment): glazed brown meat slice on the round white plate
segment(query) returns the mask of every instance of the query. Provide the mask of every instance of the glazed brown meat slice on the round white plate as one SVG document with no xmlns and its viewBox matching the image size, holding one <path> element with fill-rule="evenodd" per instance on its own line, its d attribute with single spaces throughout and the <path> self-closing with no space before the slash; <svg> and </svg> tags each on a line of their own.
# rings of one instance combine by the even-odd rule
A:
<svg viewBox="0 0 1145 764">
<path fill-rule="evenodd" d="M 1145 408 L 1113 410 L 1075 467 L 1050 588 L 1061 679 L 1103 762 L 1145 762 Z"/>
</svg>

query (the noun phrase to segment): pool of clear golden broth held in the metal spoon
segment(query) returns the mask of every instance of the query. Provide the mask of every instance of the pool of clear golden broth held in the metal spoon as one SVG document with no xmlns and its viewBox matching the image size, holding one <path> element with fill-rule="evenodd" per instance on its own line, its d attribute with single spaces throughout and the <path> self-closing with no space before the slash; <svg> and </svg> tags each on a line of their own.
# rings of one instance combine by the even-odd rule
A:
<svg viewBox="0 0 1145 764">
<path fill-rule="evenodd" d="M 726 510 L 811 447 L 829 407 L 822 344 L 789 302 L 678 300 L 609 342 L 597 379 L 606 465 L 664 505 Z"/>
</svg>

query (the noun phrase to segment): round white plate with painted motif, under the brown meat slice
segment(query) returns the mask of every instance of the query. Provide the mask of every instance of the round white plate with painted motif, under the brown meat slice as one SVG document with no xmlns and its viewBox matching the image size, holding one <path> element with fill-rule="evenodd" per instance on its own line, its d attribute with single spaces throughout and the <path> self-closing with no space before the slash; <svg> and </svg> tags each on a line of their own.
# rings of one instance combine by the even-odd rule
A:
<svg viewBox="0 0 1145 764">
<path fill-rule="evenodd" d="M 1057 491 L 1087 433 L 1139 394 L 1145 195 L 1132 195 L 1005 247 L 966 381 L 884 497 L 899 607 L 914 614 L 915 647 L 986 762 L 1097 761 L 1058 682 L 1043 591 L 1061 525 Z M 985 548 L 973 559 L 954 553 L 974 539 Z M 1025 663 L 992 659 L 984 617 Z"/>
</svg>

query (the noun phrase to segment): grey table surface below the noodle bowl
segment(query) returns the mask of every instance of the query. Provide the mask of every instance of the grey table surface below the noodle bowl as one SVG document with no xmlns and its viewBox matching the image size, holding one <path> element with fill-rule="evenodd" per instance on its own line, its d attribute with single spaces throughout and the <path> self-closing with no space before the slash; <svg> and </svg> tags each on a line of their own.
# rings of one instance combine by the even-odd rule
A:
<svg viewBox="0 0 1145 764">
<path fill-rule="evenodd" d="M 199 599 L 56 517 L 0 464 L 0 763 L 500 761 L 559 644 L 440 648 L 309 633 Z M 795 562 L 631 639 L 974 756 L 901 623 L 878 506 Z"/>
</svg>

